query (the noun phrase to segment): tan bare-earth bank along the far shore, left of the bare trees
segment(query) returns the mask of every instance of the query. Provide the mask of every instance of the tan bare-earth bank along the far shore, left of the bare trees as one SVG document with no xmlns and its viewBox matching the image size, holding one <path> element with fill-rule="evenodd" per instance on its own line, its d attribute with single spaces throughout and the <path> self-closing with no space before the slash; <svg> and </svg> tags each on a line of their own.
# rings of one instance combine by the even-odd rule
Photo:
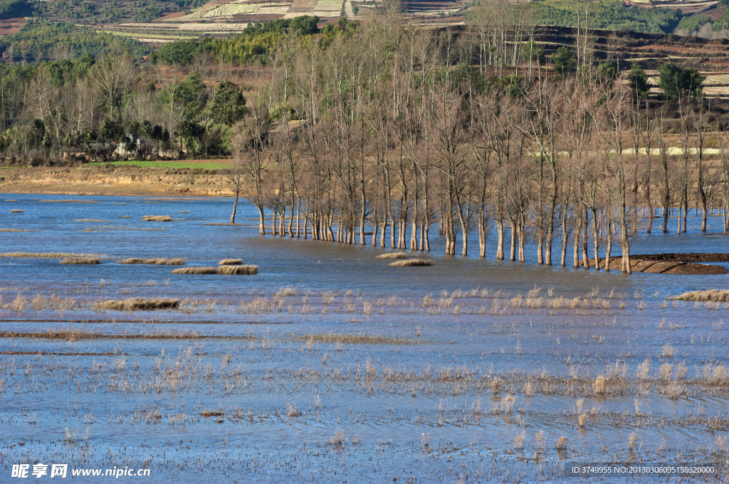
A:
<svg viewBox="0 0 729 484">
<path fill-rule="evenodd" d="M 217 170 L 139 167 L 13 167 L 0 170 L 0 192 L 68 195 L 228 197 Z"/>
</svg>

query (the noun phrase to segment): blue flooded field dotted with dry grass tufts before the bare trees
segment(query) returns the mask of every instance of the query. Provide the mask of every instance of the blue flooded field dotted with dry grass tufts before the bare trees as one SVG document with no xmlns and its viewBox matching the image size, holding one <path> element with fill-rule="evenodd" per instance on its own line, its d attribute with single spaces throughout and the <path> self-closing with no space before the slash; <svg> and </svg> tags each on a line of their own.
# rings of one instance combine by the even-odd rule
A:
<svg viewBox="0 0 729 484">
<path fill-rule="evenodd" d="M 438 237 L 432 266 L 392 267 L 259 236 L 247 205 L 222 225 L 231 205 L 0 194 L 0 482 L 64 463 L 153 483 L 580 482 L 588 464 L 728 482 L 729 304 L 674 299 L 727 276 L 453 258 Z M 727 252 L 699 223 L 633 251 Z M 257 273 L 172 273 L 223 259 Z"/>
</svg>

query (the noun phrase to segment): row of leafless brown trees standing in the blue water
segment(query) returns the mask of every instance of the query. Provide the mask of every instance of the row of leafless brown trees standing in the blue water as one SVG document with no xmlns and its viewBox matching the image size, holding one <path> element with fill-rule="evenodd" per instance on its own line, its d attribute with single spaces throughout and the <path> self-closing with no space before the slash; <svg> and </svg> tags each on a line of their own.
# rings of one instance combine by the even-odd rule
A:
<svg viewBox="0 0 729 484">
<path fill-rule="evenodd" d="M 437 223 L 445 253 L 467 255 L 476 231 L 485 257 L 496 226 L 497 258 L 523 261 L 533 239 L 538 263 L 558 245 L 566 265 L 572 243 L 588 267 L 619 245 L 630 271 L 654 206 L 664 231 L 673 207 L 685 231 L 692 197 L 704 215 L 727 207 L 729 160 L 706 155 L 727 138 L 702 100 L 669 119 L 621 75 L 558 80 L 537 63 L 531 82 L 489 78 L 473 39 L 385 21 L 326 50 L 285 41 L 253 82 L 228 171 L 260 233 L 273 213 L 281 236 L 427 251 Z"/>
</svg>

